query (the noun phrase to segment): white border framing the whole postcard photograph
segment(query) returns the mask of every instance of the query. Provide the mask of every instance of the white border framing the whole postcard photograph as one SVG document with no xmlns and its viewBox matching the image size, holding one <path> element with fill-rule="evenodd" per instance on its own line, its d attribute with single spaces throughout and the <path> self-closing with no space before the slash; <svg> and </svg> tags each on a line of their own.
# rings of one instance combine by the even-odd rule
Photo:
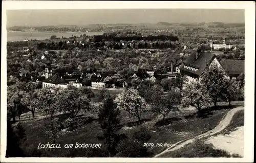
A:
<svg viewBox="0 0 256 163">
<path fill-rule="evenodd" d="M 1 162 L 253 162 L 255 2 L 2 1 Z M 243 158 L 5 158 L 6 153 L 6 10 L 26 9 L 245 9 L 245 136 Z"/>
</svg>

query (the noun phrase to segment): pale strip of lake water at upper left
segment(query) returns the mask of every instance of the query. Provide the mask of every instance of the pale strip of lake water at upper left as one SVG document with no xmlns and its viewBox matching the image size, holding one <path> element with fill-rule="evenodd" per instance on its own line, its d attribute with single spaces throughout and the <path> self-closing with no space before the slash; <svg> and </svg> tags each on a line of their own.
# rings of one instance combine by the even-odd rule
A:
<svg viewBox="0 0 256 163">
<path fill-rule="evenodd" d="M 52 35 L 56 35 L 57 37 L 71 37 L 80 36 L 81 34 L 86 34 L 89 36 L 92 35 L 102 35 L 103 32 L 8 32 L 7 31 L 7 41 L 22 41 L 22 40 L 44 40 L 50 39 Z"/>
</svg>

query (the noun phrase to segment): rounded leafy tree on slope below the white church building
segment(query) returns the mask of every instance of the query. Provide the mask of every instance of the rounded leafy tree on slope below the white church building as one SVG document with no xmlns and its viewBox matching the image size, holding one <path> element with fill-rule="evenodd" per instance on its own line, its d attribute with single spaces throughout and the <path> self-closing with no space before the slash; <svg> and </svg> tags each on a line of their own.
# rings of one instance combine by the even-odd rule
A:
<svg viewBox="0 0 256 163">
<path fill-rule="evenodd" d="M 71 118 L 75 118 L 80 110 L 88 111 L 90 109 L 90 99 L 87 95 L 82 95 L 76 87 L 70 87 L 62 90 L 55 102 L 56 109 L 68 112 Z"/>
</svg>

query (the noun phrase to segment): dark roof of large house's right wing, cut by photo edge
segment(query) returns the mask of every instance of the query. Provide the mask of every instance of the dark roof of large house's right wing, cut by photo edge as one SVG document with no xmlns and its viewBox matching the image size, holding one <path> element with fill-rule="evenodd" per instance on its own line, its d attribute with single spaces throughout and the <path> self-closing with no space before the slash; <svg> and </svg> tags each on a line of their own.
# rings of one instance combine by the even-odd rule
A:
<svg viewBox="0 0 256 163">
<path fill-rule="evenodd" d="M 222 59 L 220 63 L 229 76 L 239 76 L 244 72 L 244 60 Z"/>
</svg>

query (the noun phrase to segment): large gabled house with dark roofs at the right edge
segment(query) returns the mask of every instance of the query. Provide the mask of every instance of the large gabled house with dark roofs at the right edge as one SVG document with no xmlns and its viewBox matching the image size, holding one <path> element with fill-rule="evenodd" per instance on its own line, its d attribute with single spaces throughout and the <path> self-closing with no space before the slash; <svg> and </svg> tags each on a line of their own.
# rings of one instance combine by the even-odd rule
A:
<svg viewBox="0 0 256 163">
<path fill-rule="evenodd" d="M 180 73 L 186 75 L 188 83 L 199 81 L 205 68 L 214 64 L 223 69 L 227 78 L 236 78 L 244 72 L 244 60 L 219 60 L 215 54 L 198 50 L 187 57 L 180 67 Z"/>
</svg>

